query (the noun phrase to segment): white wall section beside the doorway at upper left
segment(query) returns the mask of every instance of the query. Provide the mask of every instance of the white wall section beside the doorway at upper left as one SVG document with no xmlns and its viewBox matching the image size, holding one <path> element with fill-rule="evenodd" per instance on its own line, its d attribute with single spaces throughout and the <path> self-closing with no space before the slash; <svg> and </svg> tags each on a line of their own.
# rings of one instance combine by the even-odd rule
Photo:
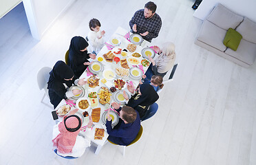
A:
<svg viewBox="0 0 256 165">
<path fill-rule="evenodd" d="M 23 0 L 23 5 L 35 39 L 40 40 L 50 25 L 74 0 Z"/>
</svg>

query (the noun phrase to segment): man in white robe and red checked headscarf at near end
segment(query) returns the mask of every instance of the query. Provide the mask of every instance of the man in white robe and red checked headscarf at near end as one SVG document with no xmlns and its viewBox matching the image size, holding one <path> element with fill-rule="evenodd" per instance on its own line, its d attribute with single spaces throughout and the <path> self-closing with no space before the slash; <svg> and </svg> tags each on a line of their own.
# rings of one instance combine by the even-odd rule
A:
<svg viewBox="0 0 256 165">
<path fill-rule="evenodd" d="M 57 148 L 58 155 L 63 157 L 81 157 L 85 149 L 90 146 L 91 140 L 78 135 L 81 131 L 81 118 L 74 115 L 78 109 L 70 111 L 70 115 L 65 116 L 53 129 L 53 146 Z M 88 130 L 92 126 L 92 116 L 89 115 Z"/>
</svg>

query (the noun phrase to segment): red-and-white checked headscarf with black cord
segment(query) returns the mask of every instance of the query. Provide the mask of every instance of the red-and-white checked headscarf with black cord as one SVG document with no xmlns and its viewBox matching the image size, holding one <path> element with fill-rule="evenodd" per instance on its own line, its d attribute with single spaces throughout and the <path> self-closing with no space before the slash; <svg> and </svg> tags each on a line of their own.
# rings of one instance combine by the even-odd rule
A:
<svg viewBox="0 0 256 165">
<path fill-rule="evenodd" d="M 77 115 L 65 116 L 58 124 L 58 131 L 60 133 L 52 140 L 53 146 L 56 146 L 60 153 L 71 153 L 76 137 L 81 131 L 81 118 Z"/>
</svg>

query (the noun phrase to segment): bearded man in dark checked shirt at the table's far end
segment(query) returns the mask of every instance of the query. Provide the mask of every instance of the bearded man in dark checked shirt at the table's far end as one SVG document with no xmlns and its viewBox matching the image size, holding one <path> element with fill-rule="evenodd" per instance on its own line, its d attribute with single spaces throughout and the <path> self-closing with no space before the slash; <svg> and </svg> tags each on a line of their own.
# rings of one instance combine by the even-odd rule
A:
<svg viewBox="0 0 256 165">
<path fill-rule="evenodd" d="M 156 4 L 149 1 L 145 8 L 135 12 L 134 17 L 129 22 L 131 32 L 140 34 L 143 39 L 151 42 L 156 38 L 162 26 L 162 20 L 156 14 Z"/>
</svg>

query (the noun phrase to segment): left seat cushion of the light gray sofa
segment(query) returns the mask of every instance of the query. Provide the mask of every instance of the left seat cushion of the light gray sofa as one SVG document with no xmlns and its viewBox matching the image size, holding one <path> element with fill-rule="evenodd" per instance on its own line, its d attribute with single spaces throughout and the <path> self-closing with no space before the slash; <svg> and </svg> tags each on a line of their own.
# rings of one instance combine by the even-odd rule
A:
<svg viewBox="0 0 256 165">
<path fill-rule="evenodd" d="M 217 27 L 213 23 L 204 20 L 201 30 L 198 34 L 198 40 L 215 47 L 217 50 L 224 52 L 226 46 L 223 44 L 226 30 Z"/>
</svg>

